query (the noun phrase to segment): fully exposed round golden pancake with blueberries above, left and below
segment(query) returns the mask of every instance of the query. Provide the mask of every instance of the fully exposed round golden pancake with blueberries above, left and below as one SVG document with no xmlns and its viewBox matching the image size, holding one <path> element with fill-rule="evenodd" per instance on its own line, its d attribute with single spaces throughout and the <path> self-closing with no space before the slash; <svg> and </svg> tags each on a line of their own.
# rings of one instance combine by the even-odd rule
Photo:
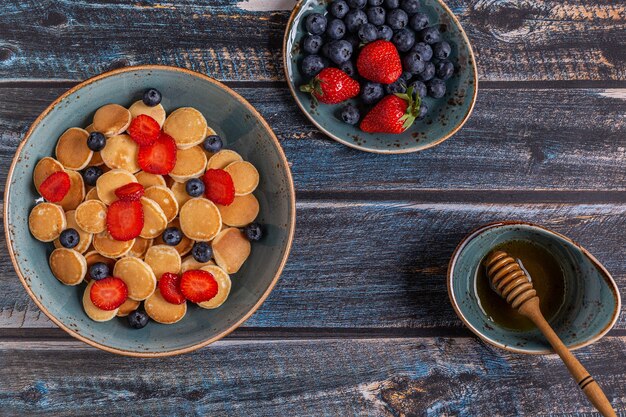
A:
<svg viewBox="0 0 626 417">
<path fill-rule="evenodd" d="M 210 241 L 222 228 L 222 216 L 212 201 L 192 198 L 180 209 L 180 228 L 189 239 Z"/>
</svg>

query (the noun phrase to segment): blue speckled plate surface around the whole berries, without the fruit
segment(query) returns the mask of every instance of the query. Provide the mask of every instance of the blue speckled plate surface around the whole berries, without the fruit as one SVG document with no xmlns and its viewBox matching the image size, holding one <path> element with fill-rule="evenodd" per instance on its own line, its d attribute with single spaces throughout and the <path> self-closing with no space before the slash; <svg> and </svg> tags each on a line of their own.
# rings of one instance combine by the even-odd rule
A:
<svg viewBox="0 0 626 417">
<path fill-rule="evenodd" d="M 283 42 L 283 62 L 289 89 L 304 114 L 322 132 L 344 145 L 375 153 L 407 153 L 428 149 L 456 133 L 469 118 L 478 91 L 476 61 L 467 35 L 452 11 L 442 1 L 422 0 L 422 12 L 439 24 L 443 38 L 452 46 L 450 60 L 455 63 L 455 75 L 449 79 L 446 95 L 438 100 L 425 98 L 430 111 L 401 135 L 371 134 L 343 123 L 337 117 L 342 104 L 315 105 L 310 95 L 299 87 L 306 84 L 300 75 L 301 40 L 307 32 L 304 18 L 313 12 L 326 13 L 327 1 L 301 0 L 293 10 Z M 351 102 L 356 103 L 355 100 Z"/>
</svg>

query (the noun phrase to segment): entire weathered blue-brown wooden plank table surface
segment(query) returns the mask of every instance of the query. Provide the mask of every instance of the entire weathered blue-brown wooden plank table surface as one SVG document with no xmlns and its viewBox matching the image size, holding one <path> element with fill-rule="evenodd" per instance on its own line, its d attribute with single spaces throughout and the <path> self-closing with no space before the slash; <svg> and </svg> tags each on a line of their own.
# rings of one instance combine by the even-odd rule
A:
<svg viewBox="0 0 626 417">
<path fill-rule="evenodd" d="M 626 4 L 451 0 L 478 102 L 442 145 L 384 156 L 321 134 L 282 71 L 293 0 L 3 0 L 0 181 L 35 117 L 133 64 L 225 81 L 278 135 L 297 189 L 291 257 L 256 314 L 195 353 L 132 359 L 56 328 L 0 254 L 0 415 L 598 416 L 555 355 L 480 342 L 445 285 L 458 242 L 520 219 L 568 235 L 626 298 Z M 577 356 L 626 416 L 626 316 Z"/>
</svg>

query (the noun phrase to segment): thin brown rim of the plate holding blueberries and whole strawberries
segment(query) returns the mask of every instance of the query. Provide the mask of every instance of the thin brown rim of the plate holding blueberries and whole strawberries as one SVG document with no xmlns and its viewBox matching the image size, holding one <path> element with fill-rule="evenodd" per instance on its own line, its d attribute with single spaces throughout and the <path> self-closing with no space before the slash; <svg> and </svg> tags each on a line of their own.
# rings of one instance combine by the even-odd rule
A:
<svg viewBox="0 0 626 417">
<path fill-rule="evenodd" d="M 293 23 L 294 23 L 294 20 L 296 19 L 296 15 L 300 12 L 300 9 L 304 5 L 304 3 L 307 1 L 309 0 L 299 0 L 298 3 L 293 8 L 293 11 L 291 12 L 291 16 L 289 16 L 289 21 L 287 22 L 287 29 L 285 30 L 285 35 L 283 37 L 283 71 L 285 73 L 285 79 L 287 80 L 287 86 L 289 87 L 289 91 L 291 91 L 291 95 L 293 96 L 294 101 L 296 102 L 296 104 L 298 105 L 302 113 L 304 113 L 304 115 L 311 121 L 311 123 L 313 123 L 326 136 L 350 148 L 358 149 L 364 152 L 371 152 L 371 153 L 378 153 L 378 154 L 403 154 L 403 153 L 421 152 L 421 151 L 425 151 L 426 149 L 433 148 L 441 144 L 442 142 L 446 141 L 447 139 L 451 138 L 452 136 L 454 136 L 463 127 L 463 125 L 465 125 L 467 120 L 472 115 L 472 111 L 474 110 L 474 105 L 476 104 L 476 98 L 478 97 L 478 66 L 476 64 L 476 57 L 474 55 L 474 50 L 472 49 L 472 44 L 470 43 L 470 40 L 467 37 L 467 34 L 465 33 L 465 29 L 463 29 L 463 26 L 461 26 L 461 22 L 459 22 L 459 19 L 452 12 L 452 10 L 450 10 L 448 5 L 446 5 L 446 3 L 443 2 L 443 0 L 435 0 L 446 11 L 446 13 L 448 14 L 448 16 L 450 16 L 454 24 L 459 28 L 459 31 L 461 33 L 461 39 L 463 39 L 463 42 L 465 42 L 465 44 L 467 45 L 467 50 L 469 51 L 469 58 L 472 62 L 472 72 L 474 73 L 474 94 L 472 95 L 472 101 L 470 103 L 469 108 L 467 109 L 467 112 L 465 113 L 463 118 L 456 124 L 456 126 L 447 135 L 439 138 L 437 141 L 430 143 L 423 147 L 412 148 L 412 149 L 372 149 L 372 148 L 367 148 L 364 146 L 359 146 L 350 141 L 340 138 L 339 136 L 335 135 L 334 133 L 326 129 L 324 126 L 322 126 L 315 119 L 315 117 L 313 117 L 306 110 L 306 108 L 302 105 L 300 100 L 298 100 L 297 92 L 294 88 L 293 82 L 291 81 L 291 77 L 289 76 L 289 70 L 287 68 L 287 61 L 289 60 L 289 57 L 288 57 L 289 53 L 287 51 L 287 42 L 289 40 L 289 36 L 291 35 L 291 31 L 294 29 Z"/>
</svg>

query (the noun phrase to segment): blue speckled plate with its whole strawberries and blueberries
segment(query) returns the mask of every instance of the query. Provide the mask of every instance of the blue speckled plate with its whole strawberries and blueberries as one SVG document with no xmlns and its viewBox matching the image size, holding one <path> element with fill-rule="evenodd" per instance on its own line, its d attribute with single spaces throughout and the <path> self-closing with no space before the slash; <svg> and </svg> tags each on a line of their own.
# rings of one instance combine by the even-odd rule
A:
<svg viewBox="0 0 626 417">
<path fill-rule="evenodd" d="M 431 148 L 478 91 L 467 35 L 440 0 L 301 0 L 283 43 L 296 103 L 322 132 L 375 153 Z"/>
</svg>

